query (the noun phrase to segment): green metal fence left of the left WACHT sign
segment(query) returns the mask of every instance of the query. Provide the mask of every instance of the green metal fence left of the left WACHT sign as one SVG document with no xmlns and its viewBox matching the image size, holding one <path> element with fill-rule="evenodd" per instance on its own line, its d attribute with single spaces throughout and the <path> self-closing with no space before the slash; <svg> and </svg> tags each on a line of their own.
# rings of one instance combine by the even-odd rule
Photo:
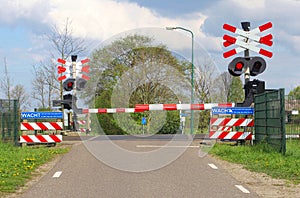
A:
<svg viewBox="0 0 300 198">
<path fill-rule="evenodd" d="M 1 141 L 17 143 L 19 120 L 19 101 L 0 99 Z"/>
</svg>

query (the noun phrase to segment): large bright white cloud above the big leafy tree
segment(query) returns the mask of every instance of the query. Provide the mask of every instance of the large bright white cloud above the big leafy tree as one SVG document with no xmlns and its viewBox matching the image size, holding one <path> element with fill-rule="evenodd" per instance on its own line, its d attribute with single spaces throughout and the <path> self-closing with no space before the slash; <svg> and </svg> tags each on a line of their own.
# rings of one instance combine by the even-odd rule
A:
<svg viewBox="0 0 300 198">
<path fill-rule="evenodd" d="M 188 28 L 199 27 L 203 16 L 170 19 L 136 3 L 111 0 L 78 1 L 53 0 L 48 20 L 61 25 L 66 18 L 72 20 L 74 33 L 80 37 L 106 39 L 123 31 L 142 27 L 165 27 L 184 24 Z M 70 5 L 71 4 L 71 5 Z"/>
</svg>

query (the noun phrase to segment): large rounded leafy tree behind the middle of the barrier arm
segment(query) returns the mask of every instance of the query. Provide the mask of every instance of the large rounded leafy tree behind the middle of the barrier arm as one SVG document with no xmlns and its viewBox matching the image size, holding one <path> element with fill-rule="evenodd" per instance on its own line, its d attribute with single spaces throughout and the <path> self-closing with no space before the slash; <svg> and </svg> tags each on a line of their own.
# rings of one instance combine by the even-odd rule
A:
<svg viewBox="0 0 300 198">
<path fill-rule="evenodd" d="M 95 104 L 99 107 L 134 107 L 135 104 L 177 103 L 177 95 L 173 87 L 180 86 L 171 83 L 174 76 L 170 75 L 170 68 L 175 68 L 183 76 L 187 71 L 187 64 L 182 64 L 176 56 L 162 45 L 154 45 L 153 39 L 142 35 L 129 35 L 94 51 L 91 60 L 91 81 L 85 89 L 85 97 L 95 93 Z M 173 79 L 172 79 L 173 78 Z M 186 77 L 188 78 L 188 77 Z M 169 82 L 169 84 L 167 84 Z M 182 85 L 184 87 L 184 85 Z M 127 96 L 129 95 L 129 97 Z M 184 94 L 183 94 L 184 95 Z M 158 127 L 161 120 L 155 120 L 154 112 L 130 115 L 131 123 L 126 116 L 118 115 L 118 121 L 126 125 L 130 132 L 141 133 L 137 125 L 141 125 L 141 118 L 147 117 L 147 133 Z M 158 112 L 155 112 L 160 114 Z M 113 115 L 98 116 L 101 126 L 107 134 L 123 134 Z M 167 113 L 166 124 L 159 129 L 159 133 L 174 133 L 179 113 Z M 172 127 L 171 127 L 172 125 Z"/>
</svg>

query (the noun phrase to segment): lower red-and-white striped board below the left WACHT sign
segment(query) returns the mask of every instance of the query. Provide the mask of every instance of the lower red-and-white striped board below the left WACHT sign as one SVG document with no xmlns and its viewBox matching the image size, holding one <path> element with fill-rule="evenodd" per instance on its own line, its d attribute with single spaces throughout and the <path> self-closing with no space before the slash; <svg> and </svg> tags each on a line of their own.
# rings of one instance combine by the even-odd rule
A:
<svg viewBox="0 0 300 198">
<path fill-rule="evenodd" d="M 62 142 L 62 135 L 22 135 L 19 143 L 57 143 Z"/>
</svg>

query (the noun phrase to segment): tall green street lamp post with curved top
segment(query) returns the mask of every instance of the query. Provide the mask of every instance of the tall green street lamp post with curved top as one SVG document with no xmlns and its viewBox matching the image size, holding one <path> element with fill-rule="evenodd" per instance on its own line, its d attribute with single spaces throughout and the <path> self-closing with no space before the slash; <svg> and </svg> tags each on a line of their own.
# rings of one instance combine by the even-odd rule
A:
<svg viewBox="0 0 300 198">
<path fill-rule="evenodd" d="M 192 72 L 191 72 L 191 104 L 194 104 L 194 33 L 183 27 L 166 27 L 167 30 L 183 30 L 189 32 L 192 35 Z M 194 129 L 194 110 L 191 110 L 191 134 Z"/>
</svg>

